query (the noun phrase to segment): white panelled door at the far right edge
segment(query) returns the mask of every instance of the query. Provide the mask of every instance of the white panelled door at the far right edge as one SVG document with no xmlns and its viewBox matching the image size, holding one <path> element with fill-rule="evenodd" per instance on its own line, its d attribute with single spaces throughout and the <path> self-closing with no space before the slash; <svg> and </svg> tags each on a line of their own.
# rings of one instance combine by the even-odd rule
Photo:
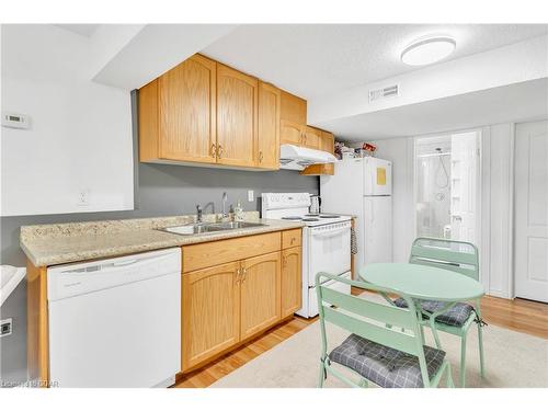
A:
<svg viewBox="0 0 548 411">
<path fill-rule="evenodd" d="M 515 294 L 548 302 L 548 122 L 515 135 Z"/>
</svg>

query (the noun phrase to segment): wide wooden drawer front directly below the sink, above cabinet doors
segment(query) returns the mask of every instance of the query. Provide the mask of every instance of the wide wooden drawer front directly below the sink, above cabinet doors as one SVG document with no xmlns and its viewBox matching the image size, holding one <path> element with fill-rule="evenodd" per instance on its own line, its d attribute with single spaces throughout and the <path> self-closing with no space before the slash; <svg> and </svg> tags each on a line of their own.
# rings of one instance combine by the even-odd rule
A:
<svg viewBox="0 0 548 411">
<path fill-rule="evenodd" d="M 281 249 L 281 233 L 232 238 L 183 247 L 183 273 L 266 254 Z"/>
</svg>

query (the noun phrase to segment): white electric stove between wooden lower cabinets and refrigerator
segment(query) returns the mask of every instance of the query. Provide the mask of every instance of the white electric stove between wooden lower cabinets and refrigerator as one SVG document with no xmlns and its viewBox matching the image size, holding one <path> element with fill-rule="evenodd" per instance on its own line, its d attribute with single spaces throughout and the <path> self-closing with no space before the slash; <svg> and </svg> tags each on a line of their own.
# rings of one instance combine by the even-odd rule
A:
<svg viewBox="0 0 548 411">
<path fill-rule="evenodd" d="M 302 306 L 297 315 L 318 315 L 316 275 L 326 272 L 351 278 L 351 216 L 310 214 L 309 193 L 263 193 L 262 218 L 301 221 L 302 228 Z M 350 286 L 327 282 L 324 286 L 350 294 Z"/>
</svg>

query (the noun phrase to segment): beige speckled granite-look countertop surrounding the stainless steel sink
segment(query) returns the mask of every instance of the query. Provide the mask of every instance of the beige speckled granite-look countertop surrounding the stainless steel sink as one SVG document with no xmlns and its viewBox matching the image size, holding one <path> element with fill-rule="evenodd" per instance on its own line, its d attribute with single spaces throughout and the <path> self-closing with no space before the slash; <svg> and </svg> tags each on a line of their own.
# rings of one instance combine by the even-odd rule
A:
<svg viewBox="0 0 548 411">
<path fill-rule="evenodd" d="M 215 218 L 207 215 L 204 221 Z M 23 226 L 20 243 L 35 266 L 47 266 L 304 227 L 298 221 L 260 219 L 256 212 L 247 213 L 244 220 L 266 226 L 181 236 L 158 229 L 191 224 L 193 216 L 69 222 Z"/>
</svg>

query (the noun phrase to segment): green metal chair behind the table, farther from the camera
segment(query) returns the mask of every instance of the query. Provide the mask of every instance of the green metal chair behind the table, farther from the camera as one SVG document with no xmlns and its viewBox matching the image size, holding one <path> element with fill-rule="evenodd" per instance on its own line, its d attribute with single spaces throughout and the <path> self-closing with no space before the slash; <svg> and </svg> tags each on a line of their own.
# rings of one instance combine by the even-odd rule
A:
<svg viewBox="0 0 548 411">
<path fill-rule="evenodd" d="M 409 262 L 450 270 L 479 281 L 478 249 L 470 242 L 418 238 L 411 247 Z M 407 301 L 401 298 L 396 299 L 393 302 L 398 307 L 407 306 Z M 478 298 L 475 304 L 476 307 L 466 302 L 457 302 L 445 311 L 443 310 L 444 305 L 441 301 L 421 301 L 422 311 L 424 312 L 424 319 L 421 323 L 431 328 L 434 326 L 437 331 L 444 331 L 460 338 L 460 386 L 465 387 L 466 338 L 473 322 L 478 326 L 480 374 L 482 377 L 484 376 L 483 335 L 481 330 L 484 322 L 480 317 L 480 300 Z M 431 316 L 434 311 L 439 312 L 435 317 Z M 437 334 L 435 332 L 433 334 L 436 346 L 439 349 L 441 344 Z"/>
</svg>

